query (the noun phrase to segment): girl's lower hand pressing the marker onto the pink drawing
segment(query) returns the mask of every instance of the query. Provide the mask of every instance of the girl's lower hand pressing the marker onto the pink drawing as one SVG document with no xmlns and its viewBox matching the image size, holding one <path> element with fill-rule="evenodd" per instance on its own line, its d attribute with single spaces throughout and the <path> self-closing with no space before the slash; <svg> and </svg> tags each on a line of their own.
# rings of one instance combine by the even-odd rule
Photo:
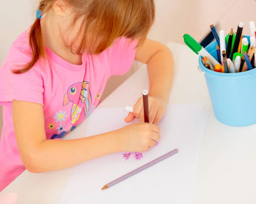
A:
<svg viewBox="0 0 256 204">
<path fill-rule="evenodd" d="M 150 123 L 136 123 L 116 130 L 124 152 L 145 152 L 160 139 L 160 128 Z"/>
</svg>

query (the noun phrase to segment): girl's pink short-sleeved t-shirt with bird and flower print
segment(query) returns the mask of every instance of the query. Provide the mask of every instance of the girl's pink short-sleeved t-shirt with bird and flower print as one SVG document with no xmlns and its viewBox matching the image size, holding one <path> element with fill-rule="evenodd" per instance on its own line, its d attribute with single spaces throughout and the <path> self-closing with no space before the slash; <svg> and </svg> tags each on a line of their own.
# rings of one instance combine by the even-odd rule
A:
<svg viewBox="0 0 256 204">
<path fill-rule="evenodd" d="M 31 60 L 28 35 L 29 30 L 15 40 L 0 69 L 4 123 L 0 191 L 25 170 L 15 138 L 12 101 L 42 104 L 47 139 L 61 139 L 95 109 L 111 75 L 123 75 L 131 68 L 136 52 L 135 42 L 121 38 L 99 56 L 84 54 L 82 65 L 74 65 L 46 48 L 45 63 L 39 60 L 28 72 L 15 75 L 11 69 Z"/>
</svg>

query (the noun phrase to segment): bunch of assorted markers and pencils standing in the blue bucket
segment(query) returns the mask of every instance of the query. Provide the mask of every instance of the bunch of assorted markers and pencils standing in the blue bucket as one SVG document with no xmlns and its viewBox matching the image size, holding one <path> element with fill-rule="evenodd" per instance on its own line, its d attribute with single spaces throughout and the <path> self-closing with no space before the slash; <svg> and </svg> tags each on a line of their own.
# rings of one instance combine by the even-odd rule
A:
<svg viewBox="0 0 256 204">
<path fill-rule="evenodd" d="M 256 28 L 253 21 L 250 26 L 250 44 L 247 37 L 243 37 L 244 23 L 239 23 L 236 33 L 231 29 L 225 36 L 225 31 L 221 30 L 219 36 L 213 25 L 210 26 L 216 39 L 216 53 L 218 60 L 215 60 L 199 43 L 191 36 L 185 34 L 184 42 L 195 53 L 201 55 L 202 62 L 207 69 L 222 73 L 245 72 L 256 67 Z M 201 47 L 200 47 L 201 46 Z"/>
</svg>

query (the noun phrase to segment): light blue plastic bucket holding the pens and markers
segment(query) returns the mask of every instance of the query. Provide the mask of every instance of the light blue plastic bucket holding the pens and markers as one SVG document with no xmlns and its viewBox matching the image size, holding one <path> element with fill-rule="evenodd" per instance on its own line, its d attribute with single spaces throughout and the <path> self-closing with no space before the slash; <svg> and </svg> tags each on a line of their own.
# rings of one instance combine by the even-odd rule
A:
<svg viewBox="0 0 256 204">
<path fill-rule="evenodd" d="M 247 37 L 249 42 L 250 38 Z M 216 41 L 205 49 L 218 60 Z M 229 126 L 256 124 L 256 68 L 247 72 L 220 73 L 207 69 L 199 57 L 204 72 L 215 117 Z"/>
</svg>

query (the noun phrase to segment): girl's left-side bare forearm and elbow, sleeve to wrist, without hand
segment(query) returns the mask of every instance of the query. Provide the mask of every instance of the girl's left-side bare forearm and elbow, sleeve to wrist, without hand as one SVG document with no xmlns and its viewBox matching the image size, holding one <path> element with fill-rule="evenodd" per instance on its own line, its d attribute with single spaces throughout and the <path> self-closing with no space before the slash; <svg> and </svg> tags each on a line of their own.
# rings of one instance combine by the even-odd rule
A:
<svg viewBox="0 0 256 204">
<path fill-rule="evenodd" d="M 114 132 L 74 140 L 46 140 L 43 106 L 13 101 L 13 123 L 20 156 L 30 172 L 63 169 L 122 151 Z"/>
</svg>

